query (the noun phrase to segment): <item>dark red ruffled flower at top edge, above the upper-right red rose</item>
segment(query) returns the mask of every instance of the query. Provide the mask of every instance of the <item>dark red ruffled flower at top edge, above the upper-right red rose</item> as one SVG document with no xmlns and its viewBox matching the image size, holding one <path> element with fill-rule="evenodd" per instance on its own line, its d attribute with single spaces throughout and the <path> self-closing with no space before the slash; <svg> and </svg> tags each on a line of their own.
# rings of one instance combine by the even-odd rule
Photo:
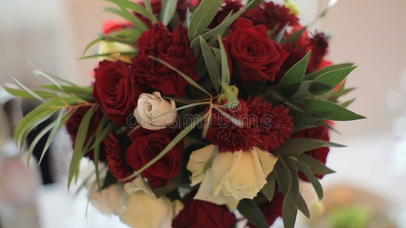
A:
<svg viewBox="0 0 406 228">
<path fill-rule="evenodd" d="M 299 25 L 299 18 L 290 13 L 289 8 L 273 2 L 263 3 L 255 9 L 247 10 L 242 17 L 250 19 L 254 25 L 265 25 L 268 30 L 279 26 L 277 33 L 289 23 L 290 26 Z"/>
</svg>

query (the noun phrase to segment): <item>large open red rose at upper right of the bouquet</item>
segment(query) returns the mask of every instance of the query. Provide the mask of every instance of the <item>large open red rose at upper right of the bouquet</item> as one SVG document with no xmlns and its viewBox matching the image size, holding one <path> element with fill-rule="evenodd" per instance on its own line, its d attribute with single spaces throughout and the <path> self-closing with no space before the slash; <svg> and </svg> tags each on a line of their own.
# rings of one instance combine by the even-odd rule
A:
<svg viewBox="0 0 406 228">
<path fill-rule="evenodd" d="M 254 27 L 252 21 L 239 18 L 234 27 L 223 41 L 233 67 L 238 68 L 235 72 L 247 82 L 274 82 L 276 72 L 289 54 L 278 42 L 270 40 L 264 25 Z"/>
</svg>

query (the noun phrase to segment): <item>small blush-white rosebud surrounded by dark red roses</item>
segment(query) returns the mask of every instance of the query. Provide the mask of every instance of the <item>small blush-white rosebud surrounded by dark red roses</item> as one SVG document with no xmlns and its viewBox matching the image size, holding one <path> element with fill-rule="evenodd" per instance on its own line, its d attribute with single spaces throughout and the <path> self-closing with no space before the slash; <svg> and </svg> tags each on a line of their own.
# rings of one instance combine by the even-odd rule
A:
<svg viewBox="0 0 406 228">
<path fill-rule="evenodd" d="M 158 130 L 175 123 L 177 111 L 162 116 L 163 113 L 175 108 L 175 101 L 167 101 L 161 97 L 159 92 L 154 92 L 152 94 L 143 93 L 138 99 L 138 105 L 134 110 L 134 116 L 138 123 L 143 125 L 143 128 Z"/>
</svg>

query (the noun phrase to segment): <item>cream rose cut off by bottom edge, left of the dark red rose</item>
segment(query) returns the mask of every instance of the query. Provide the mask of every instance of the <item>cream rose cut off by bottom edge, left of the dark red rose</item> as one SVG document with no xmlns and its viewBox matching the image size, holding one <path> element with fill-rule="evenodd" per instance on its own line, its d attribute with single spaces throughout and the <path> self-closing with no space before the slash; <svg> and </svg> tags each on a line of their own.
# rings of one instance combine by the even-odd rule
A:
<svg viewBox="0 0 406 228">
<path fill-rule="evenodd" d="M 171 228 L 172 220 L 183 209 L 180 201 L 155 197 L 142 177 L 124 186 L 129 194 L 121 221 L 134 228 Z"/>
</svg>

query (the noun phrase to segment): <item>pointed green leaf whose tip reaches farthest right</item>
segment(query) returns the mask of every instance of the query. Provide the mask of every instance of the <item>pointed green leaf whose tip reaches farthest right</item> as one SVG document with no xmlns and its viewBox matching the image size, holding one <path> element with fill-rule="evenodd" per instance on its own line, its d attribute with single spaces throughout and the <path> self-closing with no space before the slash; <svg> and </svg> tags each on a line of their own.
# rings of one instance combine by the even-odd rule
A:
<svg viewBox="0 0 406 228">
<path fill-rule="evenodd" d="M 365 119 L 365 117 L 358 115 L 346 109 L 343 106 L 320 99 L 304 99 L 304 107 L 313 114 L 325 115 L 324 118 L 333 121 L 352 121 Z"/>
</svg>

